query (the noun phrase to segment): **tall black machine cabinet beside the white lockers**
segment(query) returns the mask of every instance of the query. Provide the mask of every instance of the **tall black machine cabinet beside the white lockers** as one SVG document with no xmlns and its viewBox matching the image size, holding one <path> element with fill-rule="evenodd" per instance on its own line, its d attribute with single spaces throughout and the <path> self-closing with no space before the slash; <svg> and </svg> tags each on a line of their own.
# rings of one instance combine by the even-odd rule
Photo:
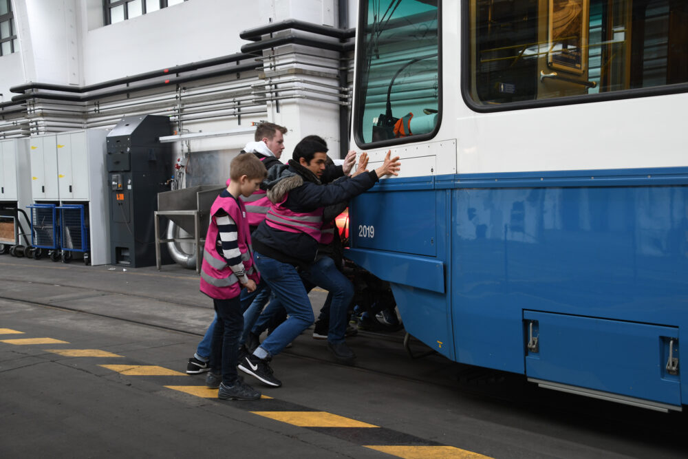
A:
<svg viewBox="0 0 688 459">
<path fill-rule="evenodd" d="M 155 265 L 153 212 L 172 171 L 170 145 L 158 138 L 171 134 L 169 118 L 147 115 L 123 118 L 107 136 L 112 264 Z"/>
</svg>

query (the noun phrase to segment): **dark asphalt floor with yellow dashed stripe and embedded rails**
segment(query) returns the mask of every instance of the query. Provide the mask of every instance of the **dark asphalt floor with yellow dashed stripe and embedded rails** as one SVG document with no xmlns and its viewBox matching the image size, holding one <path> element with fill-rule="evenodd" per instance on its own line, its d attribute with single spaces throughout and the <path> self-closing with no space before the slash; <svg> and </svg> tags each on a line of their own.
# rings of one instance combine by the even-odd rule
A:
<svg viewBox="0 0 688 459">
<path fill-rule="evenodd" d="M 184 373 L 213 318 L 197 285 L 176 265 L 0 256 L 0 457 L 685 457 L 684 413 L 411 359 L 402 332 L 359 332 L 347 367 L 306 330 L 272 361 L 283 387 L 246 376 L 270 398 L 218 401 Z"/>
</svg>

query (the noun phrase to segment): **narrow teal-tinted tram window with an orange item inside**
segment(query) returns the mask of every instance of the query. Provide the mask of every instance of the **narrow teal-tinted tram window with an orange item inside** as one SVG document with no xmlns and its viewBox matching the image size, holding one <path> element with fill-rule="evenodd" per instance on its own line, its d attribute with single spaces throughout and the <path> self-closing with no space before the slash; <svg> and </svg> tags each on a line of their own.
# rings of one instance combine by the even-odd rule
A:
<svg viewBox="0 0 688 459">
<path fill-rule="evenodd" d="M 367 5 L 365 5 L 367 3 Z M 356 82 L 356 141 L 403 142 L 439 120 L 437 0 L 363 2 Z"/>
</svg>

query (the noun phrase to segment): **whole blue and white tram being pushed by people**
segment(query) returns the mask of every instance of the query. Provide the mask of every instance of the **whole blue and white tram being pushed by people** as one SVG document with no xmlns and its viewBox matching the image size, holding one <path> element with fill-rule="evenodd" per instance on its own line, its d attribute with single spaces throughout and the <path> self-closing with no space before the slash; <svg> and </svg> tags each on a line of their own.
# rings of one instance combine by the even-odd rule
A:
<svg viewBox="0 0 688 459">
<path fill-rule="evenodd" d="M 688 2 L 363 0 L 350 259 L 471 365 L 688 403 Z"/>
</svg>

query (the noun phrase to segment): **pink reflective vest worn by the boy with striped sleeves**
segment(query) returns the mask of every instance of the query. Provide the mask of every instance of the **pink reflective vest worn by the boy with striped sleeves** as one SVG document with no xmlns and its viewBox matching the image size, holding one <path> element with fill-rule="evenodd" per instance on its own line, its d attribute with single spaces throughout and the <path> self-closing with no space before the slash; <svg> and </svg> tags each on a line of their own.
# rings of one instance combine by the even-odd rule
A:
<svg viewBox="0 0 688 459">
<path fill-rule="evenodd" d="M 258 271 L 253 267 L 253 249 L 251 247 L 251 235 L 248 229 L 248 221 L 244 217 L 246 208 L 244 203 L 237 204 L 234 198 L 222 198 L 218 196 L 211 206 L 211 224 L 208 226 L 206 244 L 203 251 L 203 264 L 201 265 L 200 290 L 208 297 L 216 299 L 229 299 L 238 297 L 241 292 L 239 279 L 232 269 L 227 266 L 224 257 L 217 251 L 217 222 L 215 214 L 219 209 L 224 210 L 237 224 L 239 250 L 241 261 L 244 262 L 244 270 L 249 279 L 256 283 L 260 281 Z"/>
</svg>

